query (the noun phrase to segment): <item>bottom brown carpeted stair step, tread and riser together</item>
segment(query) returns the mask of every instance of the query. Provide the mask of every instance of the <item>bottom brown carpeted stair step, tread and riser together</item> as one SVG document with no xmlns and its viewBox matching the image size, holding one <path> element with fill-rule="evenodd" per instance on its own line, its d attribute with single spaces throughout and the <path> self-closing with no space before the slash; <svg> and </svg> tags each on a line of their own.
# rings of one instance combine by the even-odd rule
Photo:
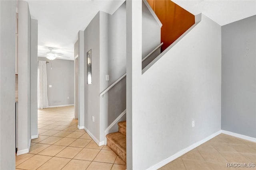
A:
<svg viewBox="0 0 256 170">
<path fill-rule="evenodd" d="M 126 136 L 120 132 L 106 135 L 108 147 L 112 149 L 124 162 L 126 162 Z"/>
</svg>

